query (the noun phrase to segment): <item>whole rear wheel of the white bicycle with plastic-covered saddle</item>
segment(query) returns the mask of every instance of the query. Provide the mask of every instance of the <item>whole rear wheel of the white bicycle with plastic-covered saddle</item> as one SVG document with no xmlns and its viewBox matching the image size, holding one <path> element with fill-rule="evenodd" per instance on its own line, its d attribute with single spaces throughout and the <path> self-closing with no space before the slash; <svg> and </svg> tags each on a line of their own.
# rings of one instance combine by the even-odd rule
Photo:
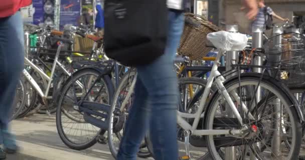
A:
<svg viewBox="0 0 305 160">
<path fill-rule="evenodd" d="M 255 91 L 257 86 L 259 91 Z M 207 135 L 208 149 L 214 159 L 223 159 L 219 150 L 234 150 L 235 159 L 297 159 L 301 137 L 297 111 L 291 107 L 293 102 L 273 78 L 241 76 L 240 81 L 236 78 L 226 82 L 225 88 L 241 115 L 243 125 L 233 115 L 223 95 L 217 92 L 205 114 L 205 129 L 217 131 L 243 128 L 243 132 L 234 135 Z M 241 99 L 236 98 L 238 96 Z M 241 101 L 249 111 L 241 109 Z M 253 115 L 251 118 L 246 116 L 250 113 Z M 289 149 L 285 146 L 286 139 L 290 142 Z"/>
</svg>

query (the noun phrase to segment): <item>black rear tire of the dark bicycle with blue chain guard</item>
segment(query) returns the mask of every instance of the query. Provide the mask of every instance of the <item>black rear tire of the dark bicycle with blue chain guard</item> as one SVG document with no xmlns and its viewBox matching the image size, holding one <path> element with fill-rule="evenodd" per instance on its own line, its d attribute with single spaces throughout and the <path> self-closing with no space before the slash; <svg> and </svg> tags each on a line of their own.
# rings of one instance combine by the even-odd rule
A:
<svg viewBox="0 0 305 160">
<path fill-rule="evenodd" d="M 67 79 L 67 81 L 66 81 L 66 83 L 65 83 L 65 85 L 62 89 L 61 97 L 59 99 L 57 110 L 56 110 L 56 127 L 57 127 L 58 134 L 59 134 L 61 140 L 68 147 L 70 147 L 72 149 L 75 149 L 75 150 L 83 150 L 83 149 L 87 149 L 87 148 L 93 146 L 95 143 L 97 143 L 97 138 L 98 138 L 100 132 L 102 131 L 101 129 L 99 129 L 97 131 L 97 133 L 91 139 L 89 139 L 87 142 L 75 143 L 67 137 L 67 135 L 64 131 L 64 128 L 62 126 L 61 114 L 62 114 L 62 110 L 63 110 L 63 108 L 62 108 L 63 105 L 61 105 L 61 104 L 63 103 L 64 95 L 69 91 L 70 85 L 74 81 L 76 81 L 79 77 L 81 77 L 85 74 L 88 74 L 88 73 L 90 73 L 92 75 L 96 75 L 96 76 L 101 74 L 100 71 L 97 71 L 96 69 L 92 69 L 92 68 L 83 68 L 83 69 L 80 69 L 77 72 L 73 73 L 72 76 L 69 77 L 69 79 Z M 108 101 L 111 102 L 112 96 L 113 96 L 113 90 L 114 90 L 111 79 L 108 75 L 104 75 L 101 78 L 102 78 L 103 82 L 105 83 L 106 89 L 108 90 L 108 94 L 109 94 L 108 95 Z"/>
</svg>

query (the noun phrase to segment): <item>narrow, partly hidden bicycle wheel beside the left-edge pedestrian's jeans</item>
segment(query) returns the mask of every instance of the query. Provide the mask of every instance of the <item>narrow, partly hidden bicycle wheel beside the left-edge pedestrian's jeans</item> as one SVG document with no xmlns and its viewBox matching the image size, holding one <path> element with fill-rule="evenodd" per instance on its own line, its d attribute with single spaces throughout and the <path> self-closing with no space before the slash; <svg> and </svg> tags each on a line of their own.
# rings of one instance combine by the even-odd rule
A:
<svg viewBox="0 0 305 160">
<path fill-rule="evenodd" d="M 11 120 L 16 119 L 24 108 L 26 102 L 26 91 L 24 81 L 21 79 L 17 85 L 16 96 L 13 104 Z"/>
</svg>

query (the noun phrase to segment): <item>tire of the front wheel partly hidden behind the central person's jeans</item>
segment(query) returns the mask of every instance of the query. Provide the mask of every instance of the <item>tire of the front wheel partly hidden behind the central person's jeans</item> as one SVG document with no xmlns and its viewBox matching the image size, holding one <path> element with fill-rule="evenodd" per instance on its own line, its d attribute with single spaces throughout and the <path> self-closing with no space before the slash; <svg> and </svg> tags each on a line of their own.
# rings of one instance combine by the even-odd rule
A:
<svg viewBox="0 0 305 160">
<path fill-rule="evenodd" d="M 118 101 L 118 97 L 121 93 L 121 90 L 124 89 L 124 86 L 125 86 L 125 83 L 127 80 L 131 80 L 131 78 L 133 78 L 136 74 L 136 70 L 135 69 L 130 69 L 129 71 L 127 71 L 123 77 L 121 77 L 121 80 L 118 84 L 118 87 L 114 93 L 114 98 L 113 98 L 113 101 L 112 101 L 112 104 L 111 104 L 111 109 L 110 109 L 110 114 L 109 114 L 109 127 L 108 127 L 108 145 L 109 145 L 109 149 L 110 149 L 110 152 L 112 154 L 112 156 L 114 158 L 116 158 L 116 154 L 117 154 L 117 149 L 116 149 L 116 146 L 114 145 L 114 140 L 113 140 L 113 130 L 118 130 L 117 128 L 121 128 L 123 127 L 123 123 L 125 122 L 124 121 L 121 121 L 120 125 L 116 125 L 116 126 L 113 126 L 113 119 L 114 119 L 114 109 L 116 108 L 116 104 L 117 104 L 117 101 Z M 121 116 L 121 118 L 125 118 L 123 116 Z M 119 135 L 117 135 L 119 136 Z M 118 137 L 119 138 L 119 137 Z M 145 148 L 146 147 L 146 144 L 145 142 L 144 143 L 141 143 L 141 146 L 140 148 Z M 150 157 L 151 154 L 149 152 L 149 150 L 139 150 L 137 152 L 137 156 L 139 157 L 142 157 L 142 158 L 147 158 L 147 157 Z"/>
</svg>

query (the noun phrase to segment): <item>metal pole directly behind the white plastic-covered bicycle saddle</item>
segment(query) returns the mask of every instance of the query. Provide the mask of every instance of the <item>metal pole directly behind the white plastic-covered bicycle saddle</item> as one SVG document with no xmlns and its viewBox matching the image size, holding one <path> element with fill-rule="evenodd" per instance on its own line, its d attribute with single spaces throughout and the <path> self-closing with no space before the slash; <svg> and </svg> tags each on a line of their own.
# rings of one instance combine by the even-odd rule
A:
<svg viewBox="0 0 305 160">
<path fill-rule="evenodd" d="M 238 25 L 226 25 L 226 30 L 229 32 L 238 32 Z M 227 51 L 226 52 L 226 71 L 232 69 L 232 64 L 236 64 L 238 61 L 238 51 Z M 234 76 L 235 74 L 231 74 L 230 76 Z M 229 78 L 228 76 L 227 78 Z M 228 116 L 234 117 L 234 113 L 229 106 L 226 106 Z M 236 159 L 236 147 L 226 147 L 225 148 L 225 159 L 226 160 L 235 160 Z"/>
</svg>

